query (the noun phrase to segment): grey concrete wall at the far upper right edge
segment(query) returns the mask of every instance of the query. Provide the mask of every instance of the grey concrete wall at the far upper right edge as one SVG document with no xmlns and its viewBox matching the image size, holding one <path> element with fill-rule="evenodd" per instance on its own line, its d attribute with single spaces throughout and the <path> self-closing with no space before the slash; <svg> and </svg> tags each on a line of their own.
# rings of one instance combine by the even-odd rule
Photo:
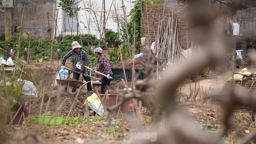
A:
<svg viewBox="0 0 256 144">
<path fill-rule="evenodd" d="M 256 8 L 237 11 L 237 22 L 240 25 L 239 33 L 245 37 L 256 36 Z"/>
</svg>

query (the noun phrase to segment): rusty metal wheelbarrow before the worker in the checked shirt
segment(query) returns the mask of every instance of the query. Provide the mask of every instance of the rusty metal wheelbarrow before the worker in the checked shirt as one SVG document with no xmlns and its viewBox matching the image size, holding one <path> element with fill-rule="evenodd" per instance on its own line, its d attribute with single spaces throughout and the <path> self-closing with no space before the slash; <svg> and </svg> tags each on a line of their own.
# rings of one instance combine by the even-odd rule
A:
<svg viewBox="0 0 256 144">
<path fill-rule="evenodd" d="M 80 81 L 74 81 L 74 80 L 69 80 L 69 79 L 56 79 L 58 85 L 61 85 L 60 87 L 60 92 L 63 93 L 68 93 L 68 88 L 72 90 L 72 88 L 78 89 L 80 86 L 83 87 L 85 84 L 90 83 L 91 81 L 88 82 L 80 82 Z"/>
</svg>

